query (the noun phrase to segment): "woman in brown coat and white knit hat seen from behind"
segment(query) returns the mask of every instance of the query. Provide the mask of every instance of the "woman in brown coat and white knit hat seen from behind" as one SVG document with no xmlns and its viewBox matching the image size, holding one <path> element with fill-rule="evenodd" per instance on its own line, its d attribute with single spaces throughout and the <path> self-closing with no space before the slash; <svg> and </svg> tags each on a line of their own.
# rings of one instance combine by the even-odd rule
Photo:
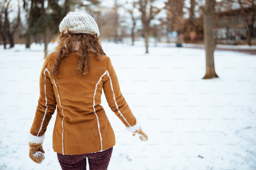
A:
<svg viewBox="0 0 256 170">
<path fill-rule="evenodd" d="M 104 109 L 102 89 L 111 110 L 127 127 L 147 136 L 120 91 L 110 58 L 101 48 L 98 25 L 88 14 L 69 12 L 59 25 L 55 52 L 48 55 L 40 75 L 40 96 L 29 134 L 29 157 L 44 160 L 42 142 L 56 109 L 52 147 L 62 169 L 107 169 L 115 136 Z"/>
</svg>

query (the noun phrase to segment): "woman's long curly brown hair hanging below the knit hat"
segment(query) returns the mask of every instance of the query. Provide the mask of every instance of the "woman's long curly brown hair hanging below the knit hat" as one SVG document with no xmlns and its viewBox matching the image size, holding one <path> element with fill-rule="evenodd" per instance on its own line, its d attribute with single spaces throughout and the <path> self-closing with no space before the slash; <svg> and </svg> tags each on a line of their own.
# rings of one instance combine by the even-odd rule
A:
<svg viewBox="0 0 256 170">
<path fill-rule="evenodd" d="M 58 68 L 62 58 L 70 55 L 72 51 L 76 48 L 76 42 L 80 42 L 79 48 L 76 55 L 79 57 L 79 62 L 77 66 L 77 75 L 81 77 L 89 73 L 88 68 L 88 59 L 89 52 L 92 50 L 96 54 L 96 59 L 100 60 L 101 55 L 106 55 L 101 48 L 100 40 L 98 34 L 71 34 L 71 33 L 59 33 L 57 35 L 58 46 L 55 47 L 55 51 L 49 54 L 47 57 L 53 58 L 54 63 L 51 69 L 49 70 L 52 78 L 55 78 L 58 75 Z M 55 55 L 52 55 L 55 54 Z"/>
</svg>

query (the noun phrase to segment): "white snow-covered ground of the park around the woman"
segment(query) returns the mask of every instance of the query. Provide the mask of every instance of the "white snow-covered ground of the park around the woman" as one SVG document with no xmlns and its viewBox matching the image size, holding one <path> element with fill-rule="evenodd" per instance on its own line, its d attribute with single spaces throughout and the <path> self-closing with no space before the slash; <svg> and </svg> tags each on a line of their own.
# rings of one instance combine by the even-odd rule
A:
<svg viewBox="0 0 256 170">
<path fill-rule="evenodd" d="M 220 78 L 202 80 L 203 49 L 150 47 L 145 55 L 143 46 L 102 47 L 148 135 L 142 142 L 126 131 L 102 96 L 116 137 L 109 169 L 256 169 L 255 56 L 216 51 Z M 45 160 L 36 164 L 28 156 L 44 52 L 35 44 L 24 48 L 0 47 L 0 169 L 61 169 L 51 145 L 55 116 L 43 143 Z"/>
</svg>

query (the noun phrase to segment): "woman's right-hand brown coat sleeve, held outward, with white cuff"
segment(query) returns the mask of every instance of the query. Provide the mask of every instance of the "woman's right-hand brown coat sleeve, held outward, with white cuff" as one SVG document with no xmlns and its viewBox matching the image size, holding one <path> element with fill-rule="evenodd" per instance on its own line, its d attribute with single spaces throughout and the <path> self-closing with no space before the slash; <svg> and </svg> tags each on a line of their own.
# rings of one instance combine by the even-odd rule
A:
<svg viewBox="0 0 256 170">
<path fill-rule="evenodd" d="M 140 129 L 140 124 L 134 117 L 120 91 L 118 78 L 109 58 L 106 65 L 106 76 L 103 80 L 103 91 L 108 105 L 123 122 L 127 130 L 135 132 Z"/>
</svg>

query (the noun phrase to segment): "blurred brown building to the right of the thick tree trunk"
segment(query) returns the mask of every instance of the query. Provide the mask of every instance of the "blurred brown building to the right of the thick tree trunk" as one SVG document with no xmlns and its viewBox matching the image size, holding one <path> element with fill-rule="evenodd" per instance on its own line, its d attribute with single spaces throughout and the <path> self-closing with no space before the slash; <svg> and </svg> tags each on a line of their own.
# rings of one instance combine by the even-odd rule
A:
<svg viewBox="0 0 256 170">
<path fill-rule="evenodd" d="M 217 40 L 233 40 L 232 44 L 236 44 L 246 40 L 249 31 L 251 31 L 251 38 L 256 38 L 255 11 L 249 1 L 244 0 L 242 2 L 239 4 L 238 0 L 233 0 L 233 2 L 223 0 L 212 4 L 215 5 L 216 19 L 218 20 L 215 28 L 212 29 L 215 31 Z M 253 3 L 256 5 L 256 1 Z M 251 22 L 252 30 L 249 28 L 248 22 Z"/>
</svg>

